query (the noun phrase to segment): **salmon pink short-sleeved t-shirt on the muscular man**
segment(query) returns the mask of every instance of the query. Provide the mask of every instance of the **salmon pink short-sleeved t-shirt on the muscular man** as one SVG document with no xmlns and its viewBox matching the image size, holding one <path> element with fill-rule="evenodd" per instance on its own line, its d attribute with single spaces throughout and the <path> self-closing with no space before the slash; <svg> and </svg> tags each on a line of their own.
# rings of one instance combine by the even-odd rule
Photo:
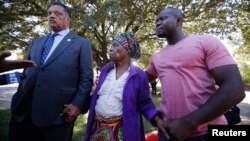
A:
<svg viewBox="0 0 250 141">
<path fill-rule="evenodd" d="M 183 117 L 201 107 L 215 93 L 209 70 L 229 64 L 236 62 L 211 35 L 189 35 L 155 52 L 147 72 L 160 79 L 160 110 L 165 120 Z M 221 116 L 202 124 L 192 136 L 207 133 L 208 124 L 227 124 L 227 121 Z"/>
</svg>

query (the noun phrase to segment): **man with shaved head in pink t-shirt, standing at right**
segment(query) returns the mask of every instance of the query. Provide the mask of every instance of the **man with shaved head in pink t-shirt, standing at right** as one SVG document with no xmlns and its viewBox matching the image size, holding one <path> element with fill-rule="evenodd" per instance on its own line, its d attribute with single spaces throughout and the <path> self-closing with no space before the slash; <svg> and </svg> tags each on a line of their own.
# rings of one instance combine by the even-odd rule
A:
<svg viewBox="0 0 250 141">
<path fill-rule="evenodd" d="M 226 47 L 210 35 L 185 35 L 182 24 L 177 8 L 159 13 L 156 34 L 168 44 L 152 55 L 146 72 L 150 81 L 160 79 L 160 110 L 170 138 L 207 140 L 208 125 L 227 124 L 223 114 L 244 99 L 244 86 Z M 159 140 L 168 139 L 159 132 Z"/>
</svg>

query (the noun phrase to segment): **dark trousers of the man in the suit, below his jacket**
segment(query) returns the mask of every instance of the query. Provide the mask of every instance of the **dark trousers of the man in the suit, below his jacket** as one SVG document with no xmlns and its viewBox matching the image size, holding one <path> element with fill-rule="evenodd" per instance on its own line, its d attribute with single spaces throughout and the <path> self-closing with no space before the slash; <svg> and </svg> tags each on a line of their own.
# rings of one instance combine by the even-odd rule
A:
<svg viewBox="0 0 250 141">
<path fill-rule="evenodd" d="M 22 122 L 11 118 L 9 141 L 71 141 L 74 123 L 37 127 L 31 119 Z"/>
</svg>

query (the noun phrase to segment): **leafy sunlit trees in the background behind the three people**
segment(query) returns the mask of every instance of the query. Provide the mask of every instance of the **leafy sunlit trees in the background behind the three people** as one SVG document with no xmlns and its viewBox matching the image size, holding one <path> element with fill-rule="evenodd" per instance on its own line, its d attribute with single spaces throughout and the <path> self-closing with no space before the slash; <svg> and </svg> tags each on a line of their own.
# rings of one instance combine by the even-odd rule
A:
<svg viewBox="0 0 250 141">
<path fill-rule="evenodd" d="M 0 50 L 19 50 L 22 59 L 31 39 L 50 32 L 46 16 L 52 0 L 0 1 Z M 247 0 L 61 0 L 72 8 L 71 30 L 93 43 L 94 65 L 108 62 L 114 36 L 134 32 L 142 46 L 138 65 L 164 45 L 155 36 L 155 19 L 165 6 L 179 7 L 187 34 L 208 33 L 230 41 L 246 84 L 250 85 L 250 3 Z M 229 48 L 230 49 L 230 48 Z"/>
</svg>

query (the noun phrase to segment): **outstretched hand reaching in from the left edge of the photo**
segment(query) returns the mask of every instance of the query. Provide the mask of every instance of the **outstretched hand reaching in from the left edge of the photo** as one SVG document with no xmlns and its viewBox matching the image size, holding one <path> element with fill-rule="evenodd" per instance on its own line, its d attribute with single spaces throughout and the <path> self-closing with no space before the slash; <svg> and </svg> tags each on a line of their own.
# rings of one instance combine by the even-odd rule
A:
<svg viewBox="0 0 250 141">
<path fill-rule="evenodd" d="M 29 60 L 6 60 L 11 55 L 10 51 L 0 52 L 0 73 L 13 69 L 35 67 L 36 64 Z"/>
</svg>

